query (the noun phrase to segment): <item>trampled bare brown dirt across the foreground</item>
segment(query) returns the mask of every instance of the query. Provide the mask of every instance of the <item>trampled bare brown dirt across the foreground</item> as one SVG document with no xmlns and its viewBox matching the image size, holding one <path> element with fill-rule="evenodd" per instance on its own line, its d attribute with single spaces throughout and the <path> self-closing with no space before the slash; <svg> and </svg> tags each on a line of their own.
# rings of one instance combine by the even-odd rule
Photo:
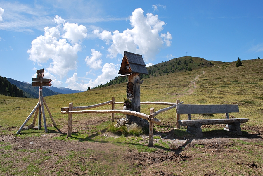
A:
<svg viewBox="0 0 263 176">
<path fill-rule="evenodd" d="M 96 117 L 74 122 L 73 132 L 78 132 L 80 129 L 92 128 L 92 126 L 106 120 L 109 119 Z M 169 126 L 169 124 L 164 125 Z M 159 139 L 154 139 L 154 144 L 161 141 L 169 144 L 169 148 L 154 146 L 153 148 L 157 149 L 154 152 L 139 152 L 137 149 L 116 145 L 116 143 L 111 142 L 54 139 L 54 137 L 61 136 L 67 132 L 67 126 L 64 126 L 60 129 L 61 133 L 51 132 L 38 137 L 23 138 L 1 135 L 0 142 L 10 143 L 12 149 L 10 149 L 10 152 L 10 150 L 5 150 L 2 147 L 0 154 L 3 156 L 13 153 L 12 157 L 5 157 L 1 163 L 8 163 L 11 159 L 17 161 L 12 162 L 12 166 L 10 167 L 16 168 L 13 171 L 14 173 L 19 173 L 28 168 L 28 163 L 24 161 L 36 161 L 38 164 L 40 162 L 39 165 L 41 165 L 42 171 L 39 175 L 90 175 L 90 170 L 95 166 L 88 165 L 87 163 L 92 162 L 99 162 L 101 165 L 105 162 L 104 164 L 110 165 L 110 169 L 112 170 L 111 172 L 94 172 L 94 175 L 169 176 L 224 175 L 224 173 L 228 175 L 262 175 L 262 164 L 254 160 L 253 157 L 246 158 L 247 156 L 243 152 L 250 152 L 251 150 L 260 151 L 262 149 L 263 127 L 256 126 L 251 129 L 251 127 L 243 126 L 242 130 L 248 130 L 248 128 L 254 132 L 245 132 L 245 135 L 242 136 L 236 136 L 232 133 L 227 133 L 226 136 L 217 134 L 217 132 L 206 132 L 204 133 L 205 137 L 202 139 L 196 139 L 194 136 L 180 139 L 176 135 L 175 129 L 167 130 L 166 128 L 155 132 L 155 136 L 158 136 Z M 32 130 L 32 132 L 37 131 Z M 105 130 L 102 130 L 101 134 L 98 135 L 119 137 Z M 96 136 L 96 134 L 93 136 Z M 147 146 L 148 136 L 145 135 L 142 138 L 143 140 L 140 141 L 140 144 L 134 145 Z M 238 140 L 243 141 L 243 143 L 238 142 Z M 248 145 L 248 143 L 251 145 Z M 87 155 L 84 151 L 89 151 L 89 154 Z M 74 162 L 86 167 L 86 169 L 78 168 L 76 165 L 72 166 L 71 159 L 76 160 L 76 158 L 70 158 L 70 153 L 79 155 L 77 161 Z M 107 156 L 112 158 L 110 162 Z M 44 157 L 49 159 L 41 160 Z M 262 153 L 259 153 L 258 157 L 262 159 Z M 225 160 L 233 164 L 226 165 Z M 120 165 L 126 165 L 124 173 L 121 171 L 117 172 L 117 168 Z M 240 168 L 233 168 L 231 165 L 238 165 Z M 63 171 L 61 171 L 61 168 L 63 168 Z M 16 174 L 9 172 L 4 175 Z M 32 175 L 34 174 L 32 173 Z"/>
</svg>

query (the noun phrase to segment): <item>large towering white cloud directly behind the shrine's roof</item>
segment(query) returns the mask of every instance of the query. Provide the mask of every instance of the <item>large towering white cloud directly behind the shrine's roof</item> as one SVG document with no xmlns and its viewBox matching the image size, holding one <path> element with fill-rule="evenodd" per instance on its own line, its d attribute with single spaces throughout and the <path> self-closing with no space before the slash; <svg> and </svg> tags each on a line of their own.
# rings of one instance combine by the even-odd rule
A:
<svg viewBox="0 0 263 176">
<path fill-rule="evenodd" d="M 172 35 L 169 32 L 159 35 L 165 23 L 158 19 L 158 15 L 147 13 L 144 16 L 143 12 L 141 8 L 135 9 L 130 17 L 133 28 L 122 33 L 118 30 L 93 31 L 106 44 L 111 44 L 108 48 L 108 57 L 115 58 L 117 54 L 129 51 L 144 55 L 145 60 L 154 60 L 164 44 L 168 47 L 171 45 Z"/>
</svg>

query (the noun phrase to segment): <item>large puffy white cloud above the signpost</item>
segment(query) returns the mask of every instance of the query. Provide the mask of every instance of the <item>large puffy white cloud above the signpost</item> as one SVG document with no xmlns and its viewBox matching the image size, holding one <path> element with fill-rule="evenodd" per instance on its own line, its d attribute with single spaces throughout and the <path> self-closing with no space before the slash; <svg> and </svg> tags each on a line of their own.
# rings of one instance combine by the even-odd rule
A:
<svg viewBox="0 0 263 176">
<path fill-rule="evenodd" d="M 56 16 L 56 23 L 63 23 L 61 26 L 45 27 L 44 36 L 39 36 L 31 42 L 29 59 L 41 65 L 50 61 L 47 71 L 63 78 L 70 70 L 77 68 L 77 52 L 81 50 L 81 45 L 77 42 L 86 37 L 86 27 L 75 23 L 64 23 L 61 17 Z M 67 39 L 71 41 L 70 44 Z"/>
</svg>

